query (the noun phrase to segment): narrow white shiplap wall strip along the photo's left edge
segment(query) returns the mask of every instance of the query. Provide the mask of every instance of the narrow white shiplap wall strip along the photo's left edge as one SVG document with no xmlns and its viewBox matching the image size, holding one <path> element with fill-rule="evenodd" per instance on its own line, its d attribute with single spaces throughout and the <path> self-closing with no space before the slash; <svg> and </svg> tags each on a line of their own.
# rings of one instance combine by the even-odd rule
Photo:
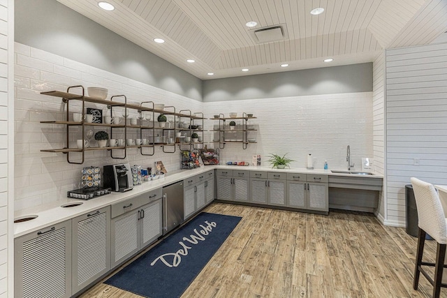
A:
<svg viewBox="0 0 447 298">
<path fill-rule="evenodd" d="M 0 298 L 13 297 L 14 1 L 0 0 Z"/>
</svg>

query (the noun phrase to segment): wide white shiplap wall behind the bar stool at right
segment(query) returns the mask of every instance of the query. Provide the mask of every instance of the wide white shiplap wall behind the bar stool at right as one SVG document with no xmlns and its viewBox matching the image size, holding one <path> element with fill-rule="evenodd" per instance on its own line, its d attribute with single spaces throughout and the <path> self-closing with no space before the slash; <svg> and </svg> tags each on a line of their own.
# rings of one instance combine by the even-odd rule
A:
<svg viewBox="0 0 447 298">
<path fill-rule="evenodd" d="M 404 225 L 410 177 L 447 182 L 447 43 L 386 51 L 386 123 L 387 221 Z"/>
</svg>

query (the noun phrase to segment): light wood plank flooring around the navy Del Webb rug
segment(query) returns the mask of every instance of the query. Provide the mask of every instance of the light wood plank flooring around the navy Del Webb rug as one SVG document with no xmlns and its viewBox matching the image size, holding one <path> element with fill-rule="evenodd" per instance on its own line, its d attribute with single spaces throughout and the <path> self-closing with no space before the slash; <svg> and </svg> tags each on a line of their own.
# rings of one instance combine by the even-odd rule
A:
<svg viewBox="0 0 447 298">
<path fill-rule="evenodd" d="M 431 297 L 413 290 L 417 239 L 374 216 L 329 216 L 213 203 L 204 211 L 242 221 L 182 297 Z M 424 260 L 433 262 L 434 241 Z M 150 278 L 150 277 L 149 277 Z M 140 297 L 98 283 L 87 297 Z M 441 289 L 447 297 L 447 289 Z"/>
</svg>

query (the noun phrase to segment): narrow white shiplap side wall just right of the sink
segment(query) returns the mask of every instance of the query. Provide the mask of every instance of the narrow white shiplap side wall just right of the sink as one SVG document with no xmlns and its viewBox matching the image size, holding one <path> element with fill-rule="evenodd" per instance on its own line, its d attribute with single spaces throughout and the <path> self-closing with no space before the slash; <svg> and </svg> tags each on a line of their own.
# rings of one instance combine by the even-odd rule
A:
<svg viewBox="0 0 447 298">
<path fill-rule="evenodd" d="M 385 51 L 377 57 L 372 64 L 373 75 L 373 149 L 374 149 L 374 168 L 377 173 L 385 174 Z M 386 185 L 386 179 L 383 179 Z M 377 216 L 381 221 L 386 218 L 386 199 L 385 193 L 379 193 L 379 210 Z"/>
</svg>

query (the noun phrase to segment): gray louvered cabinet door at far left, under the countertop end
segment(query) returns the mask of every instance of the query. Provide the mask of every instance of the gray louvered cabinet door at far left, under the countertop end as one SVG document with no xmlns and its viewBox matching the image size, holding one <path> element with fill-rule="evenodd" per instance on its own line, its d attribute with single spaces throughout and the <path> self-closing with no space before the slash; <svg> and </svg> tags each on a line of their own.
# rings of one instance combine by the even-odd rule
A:
<svg viewBox="0 0 447 298">
<path fill-rule="evenodd" d="M 71 297 L 71 220 L 14 240 L 14 297 Z"/>
</svg>

